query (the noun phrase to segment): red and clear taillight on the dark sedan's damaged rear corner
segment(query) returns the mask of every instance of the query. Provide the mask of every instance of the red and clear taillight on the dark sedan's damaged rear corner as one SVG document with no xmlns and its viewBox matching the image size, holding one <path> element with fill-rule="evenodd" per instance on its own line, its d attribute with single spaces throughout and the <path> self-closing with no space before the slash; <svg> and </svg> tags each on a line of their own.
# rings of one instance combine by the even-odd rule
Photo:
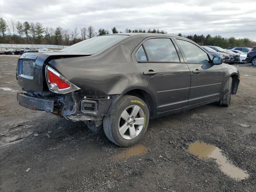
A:
<svg viewBox="0 0 256 192">
<path fill-rule="evenodd" d="M 46 66 L 45 75 L 48 88 L 54 93 L 65 94 L 80 89 L 49 66 Z"/>
</svg>

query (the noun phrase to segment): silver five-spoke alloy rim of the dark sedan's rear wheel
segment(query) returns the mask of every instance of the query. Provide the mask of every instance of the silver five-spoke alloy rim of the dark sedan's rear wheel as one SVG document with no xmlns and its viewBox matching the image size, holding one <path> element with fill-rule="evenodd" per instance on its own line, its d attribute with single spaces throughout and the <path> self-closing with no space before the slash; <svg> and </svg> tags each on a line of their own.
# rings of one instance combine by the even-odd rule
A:
<svg viewBox="0 0 256 192">
<path fill-rule="evenodd" d="M 127 107 L 118 121 L 118 131 L 122 138 L 130 140 L 136 138 L 144 128 L 145 114 L 138 105 Z"/>
</svg>

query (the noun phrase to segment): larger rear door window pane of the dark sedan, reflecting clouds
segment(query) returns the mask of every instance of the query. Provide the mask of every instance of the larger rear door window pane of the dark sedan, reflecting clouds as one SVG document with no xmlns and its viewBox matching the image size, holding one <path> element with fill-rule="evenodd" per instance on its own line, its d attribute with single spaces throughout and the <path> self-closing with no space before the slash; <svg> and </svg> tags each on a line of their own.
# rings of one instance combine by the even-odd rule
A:
<svg viewBox="0 0 256 192">
<path fill-rule="evenodd" d="M 169 38 L 154 38 L 144 43 L 148 61 L 180 62 L 177 51 Z"/>
</svg>

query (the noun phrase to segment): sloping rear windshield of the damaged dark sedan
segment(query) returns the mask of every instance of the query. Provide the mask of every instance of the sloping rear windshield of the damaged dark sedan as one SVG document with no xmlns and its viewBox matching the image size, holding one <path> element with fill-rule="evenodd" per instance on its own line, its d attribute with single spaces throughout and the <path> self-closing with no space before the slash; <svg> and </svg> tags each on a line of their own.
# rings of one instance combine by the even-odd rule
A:
<svg viewBox="0 0 256 192">
<path fill-rule="evenodd" d="M 61 51 L 95 53 L 126 38 L 127 35 L 106 35 L 90 38 Z"/>
</svg>

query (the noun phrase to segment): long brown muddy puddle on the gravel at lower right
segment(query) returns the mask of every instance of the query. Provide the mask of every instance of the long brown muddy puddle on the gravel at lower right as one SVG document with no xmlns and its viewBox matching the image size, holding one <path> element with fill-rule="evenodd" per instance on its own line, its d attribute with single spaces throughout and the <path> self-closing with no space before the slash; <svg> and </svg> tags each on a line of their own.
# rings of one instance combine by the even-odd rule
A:
<svg viewBox="0 0 256 192">
<path fill-rule="evenodd" d="M 243 180 L 249 177 L 249 174 L 246 173 L 246 171 L 232 164 L 216 146 L 197 141 L 190 144 L 188 151 L 200 158 L 213 158 L 219 165 L 220 170 L 231 178 Z"/>
</svg>

